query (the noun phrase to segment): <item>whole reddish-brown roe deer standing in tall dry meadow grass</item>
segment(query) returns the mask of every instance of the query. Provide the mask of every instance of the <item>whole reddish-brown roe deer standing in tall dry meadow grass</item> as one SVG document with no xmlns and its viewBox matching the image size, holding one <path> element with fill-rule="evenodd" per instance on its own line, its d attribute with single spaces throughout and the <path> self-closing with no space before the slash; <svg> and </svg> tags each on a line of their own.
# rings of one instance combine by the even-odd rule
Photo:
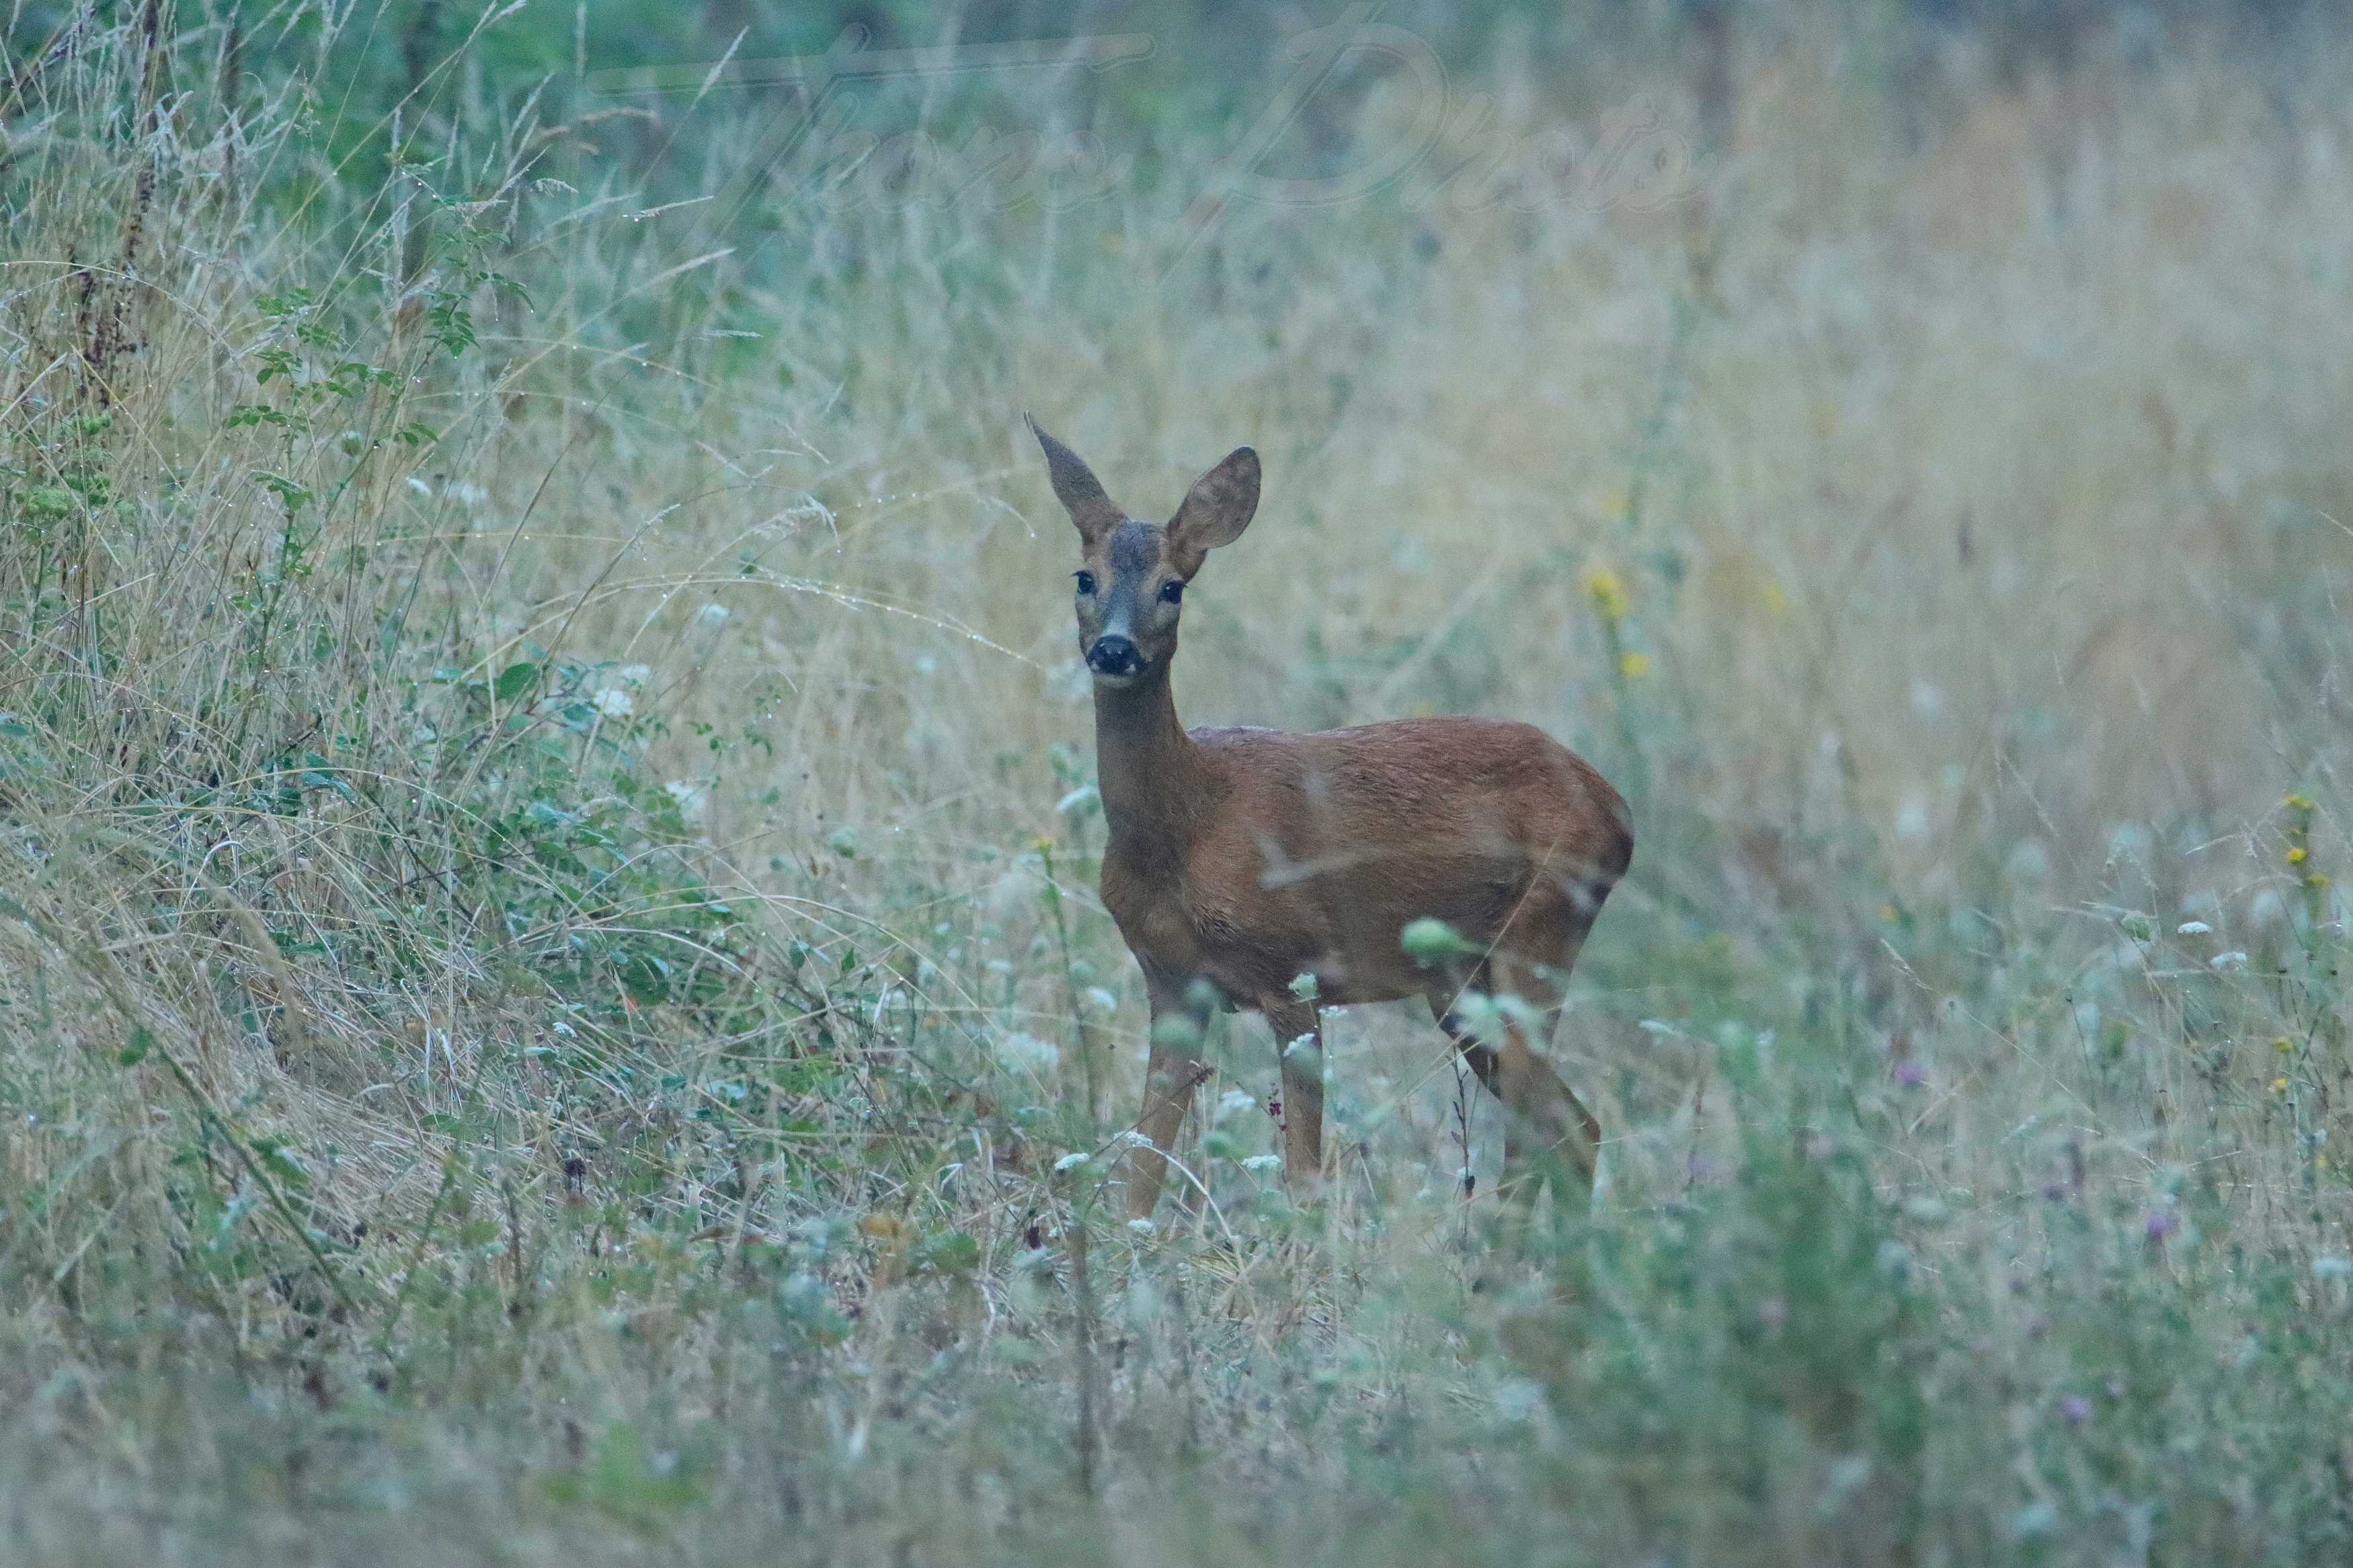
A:
<svg viewBox="0 0 2353 1568">
<path fill-rule="evenodd" d="M 1104 907 L 1144 966 L 1153 1044 L 1127 1211 L 1146 1218 L 1193 1088 L 1207 1077 L 1184 1018 L 1198 983 L 1266 1016 L 1282 1063 L 1282 1166 L 1322 1168 L 1320 1004 L 1426 997 L 1504 1103 L 1508 1185 L 1567 1161 L 1591 1192 L 1600 1124 L 1537 1053 L 1602 898 L 1633 858 L 1626 802 L 1529 724 L 1393 719 L 1322 733 L 1176 722 L 1169 661 L 1184 588 L 1259 510 L 1259 454 L 1238 447 L 1167 527 L 1136 522 L 1031 421 L 1054 496 L 1078 524 L 1078 644 L 1094 675 Z M 1402 931 L 1440 919 L 1464 961 L 1421 964 Z M 1315 978 L 1313 997 L 1294 992 Z M 1497 1044 L 1459 1016 L 1466 987 L 1511 992 Z M 1306 990 L 1304 985 L 1299 990 Z M 1461 1009 L 1468 1011 L 1468 1009 Z M 1515 1016 L 1518 1013 L 1518 1016 Z M 1497 1034 L 1489 1030 L 1489 1034 Z"/>
</svg>

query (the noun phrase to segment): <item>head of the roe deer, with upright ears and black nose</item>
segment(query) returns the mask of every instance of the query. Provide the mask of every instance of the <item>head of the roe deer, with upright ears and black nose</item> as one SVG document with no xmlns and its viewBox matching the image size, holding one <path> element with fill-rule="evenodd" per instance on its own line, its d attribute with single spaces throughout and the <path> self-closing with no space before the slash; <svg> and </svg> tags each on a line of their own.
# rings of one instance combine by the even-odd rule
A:
<svg viewBox="0 0 2353 1568">
<path fill-rule="evenodd" d="M 1167 527 L 1113 505 L 1075 451 L 1028 421 L 1045 449 L 1054 496 L 1078 527 L 1078 651 L 1099 686 L 1132 686 L 1165 675 L 1176 656 L 1184 585 L 1219 545 L 1231 545 L 1259 510 L 1259 454 L 1235 447 L 1186 491 Z"/>
</svg>

